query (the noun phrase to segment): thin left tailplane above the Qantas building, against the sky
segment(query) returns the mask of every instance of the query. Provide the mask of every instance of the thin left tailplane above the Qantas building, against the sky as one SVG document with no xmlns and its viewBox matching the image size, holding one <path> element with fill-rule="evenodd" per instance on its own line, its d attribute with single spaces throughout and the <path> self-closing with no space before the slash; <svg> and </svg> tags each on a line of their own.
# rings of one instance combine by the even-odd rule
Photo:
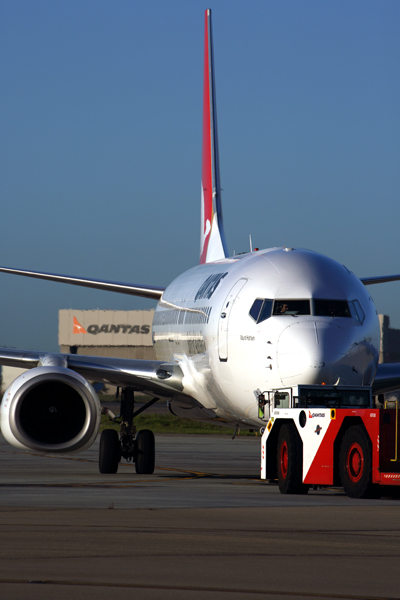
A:
<svg viewBox="0 0 400 600">
<path fill-rule="evenodd" d="M 70 275 L 57 275 L 56 273 L 41 273 L 40 271 L 10 269 L 8 267 L 0 267 L 0 272 L 10 273 L 12 275 L 22 275 L 23 277 L 34 277 L 36 279 L 47 279 L 48 281 L 57 281 L 58 283 L 80 285 L 82 287 L 91 287 L 97 290 L 105 290 L 107 292 L 129 294 L 130 296 L 141 296 L 142 298 L 150 298 L 152 300 L 159 300 L 165 291 L 165 288 L 153 287 L 149 285 L 135 285 L 133 283 L 107 281 L 102 279 L 87 279 L 85 277 L 72 277 Z"/>
</svg>

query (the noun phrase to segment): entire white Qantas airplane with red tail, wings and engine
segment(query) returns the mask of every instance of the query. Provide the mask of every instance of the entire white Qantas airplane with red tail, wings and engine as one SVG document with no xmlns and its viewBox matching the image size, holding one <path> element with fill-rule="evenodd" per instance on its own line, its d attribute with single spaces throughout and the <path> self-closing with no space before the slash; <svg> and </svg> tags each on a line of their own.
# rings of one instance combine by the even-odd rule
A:
<svg viewBox="0 0 400 600">
<path fill-rule="evenodd" d="M 71 453 L 98 435 L 98 384 L 121 392 L 120 432 L 101 434 L 99 469 L 121 457 L 154 471 L 155 442 L 135 417 L 158 399 L 172 414 L 262 428 L 260 399 L 300 384 L 362 386 L 377 396 L 400 389 L 400 363 L 379 365 L 378 315 L 367 286 L 400 275 L 358 279 L 319 253 L 292 247 L 230 255 L 225 239 L 211 10 L 205 12 L 200 262 L 167 288 L 0 267 L 34 277 L 157 301 L 157 360 L 129 360 L 0 348 L 0 364 L 29 369 L 5 392 L 3 436 L 27 450 Z M 89 381 L 96 382 L 91 385 Z M 135 410 L 135 392 L 149 401 Z"/>
</svg>

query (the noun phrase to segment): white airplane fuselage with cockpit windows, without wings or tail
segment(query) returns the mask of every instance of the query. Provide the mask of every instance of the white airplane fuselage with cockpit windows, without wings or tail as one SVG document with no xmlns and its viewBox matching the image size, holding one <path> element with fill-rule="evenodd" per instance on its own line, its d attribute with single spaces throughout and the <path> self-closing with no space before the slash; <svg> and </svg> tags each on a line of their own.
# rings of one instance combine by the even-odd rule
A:
<svg viewBox="0 0 400 600">
<path fill-rule="evenodd" d="M 217 418 L 261 426 L 256 390 L 371 385 L 379 321 L 346 267 L 271 248 L 180 275 L 157 305 L 153 342 L 159 360 L 179 361 L 184 393 Z"/>
</svg>

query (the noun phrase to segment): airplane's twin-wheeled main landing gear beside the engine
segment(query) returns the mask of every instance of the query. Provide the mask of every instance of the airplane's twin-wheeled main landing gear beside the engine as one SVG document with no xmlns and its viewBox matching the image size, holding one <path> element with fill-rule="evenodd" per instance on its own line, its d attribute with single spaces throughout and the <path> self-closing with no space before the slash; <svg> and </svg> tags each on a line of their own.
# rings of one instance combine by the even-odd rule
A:
<svg viewBox="0 0 400 600">
<path fill-rule="evenodd" d="M 104 429 L 100 437 L 99 471 L 100 473 L 116 473 L 121 458 L 135 463 L 136 473 L 140 475 L 151 474 L 154 471 L 155 444 L 154 434 L 149 429 L 142 429 L 136 433 L 133 419 L 141 412 L 157 402 L 153 398 L 138 410 L 135 408 L 134 390 L 123 388 L 121 393 L 120 415 L 115 417 L 107 409 L 110 420 L 120 423 L 120 432 L 115 429 Z"/>
</svg>

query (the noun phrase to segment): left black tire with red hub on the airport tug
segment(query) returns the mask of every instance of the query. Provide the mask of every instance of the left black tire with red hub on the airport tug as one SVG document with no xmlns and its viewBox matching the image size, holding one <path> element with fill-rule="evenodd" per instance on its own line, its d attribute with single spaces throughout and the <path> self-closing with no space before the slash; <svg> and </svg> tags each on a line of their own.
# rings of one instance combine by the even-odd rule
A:
<svg viewBox="0 0 400 600">
<path fill-rule="evenodd" d="M 307 494 L 303 483 L 303 444 L 293 423 L 282 425 L 278 436 L 277 473 L 281 494 Z"/>
</svg>

